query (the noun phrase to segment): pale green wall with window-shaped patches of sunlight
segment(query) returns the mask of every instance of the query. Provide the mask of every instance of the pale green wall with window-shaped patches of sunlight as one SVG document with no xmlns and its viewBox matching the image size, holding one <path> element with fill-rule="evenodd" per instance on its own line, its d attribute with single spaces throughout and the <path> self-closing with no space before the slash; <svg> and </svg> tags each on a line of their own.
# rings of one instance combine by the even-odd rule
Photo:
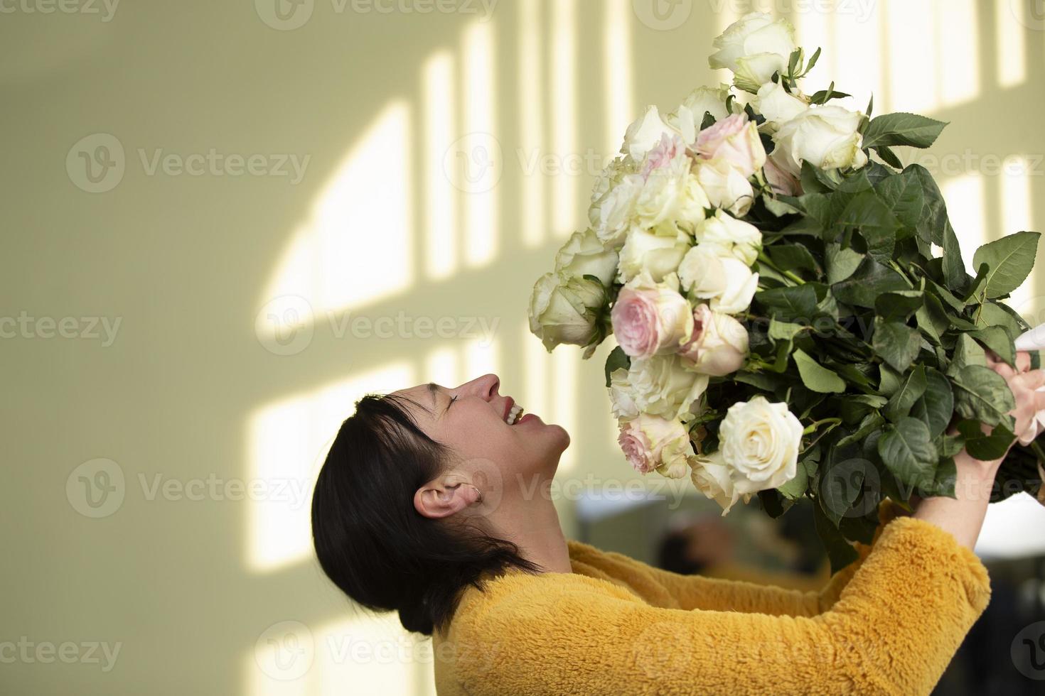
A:
<svg viewBox="0 0 1045 696">
<path fill-rule="evenodd" d="M 18 1 L 0 2 L 5 9 L 0 15 L 0 315 L 119 317 L 121 323 L 108 346 L 99 339 L 44 338 L 46 323 L 32 337 L 0 340 L 6 392 L 0 418 L 6 446 L 0 644 L 25 637 L 34 645 L 71 642 L 77 651 L 89 642 L 121 648 L 115 667 L 103 672 L 101 665 L 84 661 L 44 663 L 34 648 L 28 658 L 11 662 L 14 653 L 0 646 L 0 691 L 375 693 L 376 683 L 391 679 L 380 693 L 426 693 L 431 659 L 425 662 L 421 648 L 388 663 L 339 658 L 331 649 L 328 638 L 380 647 L 398 633 L 394 619 L 393 628 L 331 627 L 348 617 L 346 603 L 301 556 L 307 529 L 300 514 L 281 517 L 272 512 L 278 502 L 228 500 L 224 494 L 205 494 L 199 501 L 177 494 L 149 500 L 139 475 L 183 484 L 208 477 L 261 484 L 280 476 L 307 480 L 319 446 L 362 395 L 351 386 L 328 393 L 324 387 L 390 365 L 401 365 L 419 382 L 433 374 L 427 366 L 434 350 L 448 349 L 450 360 L 467 355 L 459 339 L 339 338 L 325 320 L 317 323 L 306 349 L 291 356 L 266 351 L 273 344 L 256 333 L 259 311 L 286 288 L 300 293 L 314 284 L 334 288 L 326 292 L 335 297 L 354 292 L 355 299 L 343 305 L 370 317 L 405 309 L 432 317 L 500 318 L 497 351 L 489 364 L 501 375 L 503 391 L 521 403 L 560 404 L 548 409 L 561 414 L 574 438 L 573 463 L 563 478 L 590 474 L 599 485 L 637 479 L 613 447 L 601 374 L 608 346 L 586 363 L 576 352 L 534 356 L 535 339 L 521 329 L 530 287 L 551 266 L 562 238 L 545 235 L 528 246 L 524 220 L 538 234 L 555 226 L 556 192 L 565 191 L 575 198 L 565 198 L 558 219 L 583 224 L 591 176 L 534 178 L 522 171 L 516 152 L 530 124 L 536 128 L 531 144 L 542 153 L 555 155 L 564 143 L 575 154 L 611 154 L 607 143 L 619 142 L 627 117 L 640 106 L 671 110 L 692 87 L 715 79 L 705 67 L 711 39 L 745 3 L 683 0 L 675 5 L 680 14 L 658 25 L 643 9 L 645 0 L 635 0 L 637 15 L 630 0 L 535 0 L 536 51 L 520 63 L 519 3 L 509 0 L 495 5 L 479 34 L 470 28 L 477 18 L 463 13 L 380 15 L 351 11 L 349 2 L 338 14 L 329 0 L 317 0 L 310 20 L 285 31 L 266 26 L 249 0 L 124 2 L 108 22 L 99 15 L 30 14 L 26 7 L 47 0 Z M 777 6 L 821 4 L 796 0 Z M 1006 220 L 1045 226 L 1038 203 L 1045 194 L 1045 169 L 1037 162 L 1045 152 L 1042 22 L 1027 14 L 1018 23 L 1009 0 L 846 5 L 869 15 L 842 13 L 837 25 L 815 9 L 794 17 L 803 31 L 822 31 L 831 51 L 817 69 L 819 79 L 837 77 L 839 89 L 857 92 L 865 103 L 870 88 L 854 80 L 878 74 L 888 86 L 877 95 L 879 113 L 910 109 L 952 121 L 937 153 L 968 149 L 976 157 L 1034 158 L 1032 175 L 988 172 L 963 179 L 966 165 L 959 164 L 962 171 L 940 176 L 958 182 L 947 190 L 950 202 L 966 211 L 954 223 L 970 250 L 981 239 L 1014 232 L 1002 229 Z M 258 6 L 265 7 L 264 0 Z M 574 8 L 575 30 L 563 7 Z M 604 55 L 605 26 L 614 11 L 621 24 L 609 34 L 627 47 L 620 53 L 627 70 Z M 649 24 L 677 27 L 658 30 Z M 426 106 L 424 75 L 433 56 L 445 56 L 454 71 L 451 112 L 461 112 L 466 75 L 472 74 L 461 70 L 468 63 L 468 37 L 483 31 L 489 32 L 495 89 L 488 97 L 473 90 L 472 98 L 479 107 L 492 109 L 504 173 L 491 192 L 477 198 L 448 190 L 438 167 L 425 164 L 425 133 L 435 117 Z M 1005 40 L 999 42 L 999 34 Z M 1011 70 L 1012 85 L 1002 87 L 999 65 L 1021 65 L 1017 40 L 1025 49 L 1023 74 Z M 565 46 L 565 54 L 573 48 L 576 70 L 556 57 L 563 55 L 556 46 Z M 1015 63 L 999 64 L 999 54 L 1015 55 Z M 534 102 L 532 95 L 520 95 L 518 74 L 520 65 L 537 58 L 537 75 L 525 80 L 535 88 Z M 482 73 L 482 65 L 474 67 Z M 967 93 L 963 80 L 972 80 Z M 572 94 L 576 110 L 558 94 Z M 916 103 L 901 100 L 904 95 L 916 97 Z M 527 115 L 527 103 L 536 120 Z M 617 111 L 607 105 L 614 103 Z M 404 120 L 396 121 L 395 114 Z M 402 218 L 404 210 L 409 215 L 389 226 L 373 216 L 365 226 L 344 223 L 353 209 L 367 206 L 355 188 L 365 183 L 333 193 L 328 186 L 338 181 L 346 158 L 366 142 L 377 142 L 367 134 L 378 122 L 393 136 L 381 147 L 395 151 L 405 143 L 413 152 L 404 168 L 392 168 L 397 175 L 382 174 L 389 220 Z M 467 133 L 463 123 L 454 117 L 445 133 Z M 77 141 L 99 133 L 119 139 L 125 173 L 112 190 L 92 194 L 74 184 L 78 175 L 70 176 L 66 159 Z M 310 161 L 304 178 L 292 185 L 285 177 L 249 174 L 148 175 L 137 154 L 138 148 L 188 154 L 211 147 L 240 155 L 307 154 Z M 72 157 L 75 172 L 75 151 Z M 429 185 L 435 208 L 448 200 L 458 213 L 450 230 L 464 229 L 470 206 L 494 207 L 497 222 L 483 230 L 497 242 L 492 260 L 462 264 L 448 278 L 427 272 L 424 235 L 435 215 L 425 194 Z M 537 187 L 543 209 L 524 202 L 527 186 Z M 309 230 L 317 225 L 327 231 L 326 239 L 350 244 L 340 250 L 309 247 Z M 306 240 L 304 257 L 288 251 L 295 235 Z M 412 249 L 410 261 L 378 250 L 390 239 Z M 303 270 L 286 270 L 295 267 L 291 260 L 305 257 L 308 262 L 297 266 Z M 381 269 L 375 273 L 377 264 Z M 400 275 L 397 289 L 372 301 L 358 297 L 367 293 L 365 284 L 353 284 L 356 278 L 380 283 Z M 1022 298 L 1030 302 L 1025 311 L 1041 307 L 1032 297 L 1045 275 L 1037 279 Z M 324 291 L 312 291 L 320 310 Z M 474 376 L 470 367 L 457 371 Z M 368 384 L 405 386 L 393 382 Z M 541 400 L 534 384 L 555 385 L 557 391 L 545 390 Z M 70 502 L 79 495 L 78 474 L 68 496 L 66 484 L 73 470 L 96 458 L 119 465 L 124 500 L 108 517 L 89 519 Z M 576 533 L 573 502 L 564 500 L 560 507 L 564 525 Z M 263 527 L 265 520 L 275 520 L 274 527 Z M 272 551 L 276 545 L 270 544 L 276 536 L 295 551 L 282 563 L 276 562 L 279 548 Z M 264 556 L 273 562 L 257 561 L 252 549 L 275 554 Z M 283 621 L 299 623 L 272 629 L 281 640 L 289 632 L 304 641 L 301 645 L 309 635 L 314 642 L 311 651 L 302 653 L 311 666 L 295 680 L 273 678 L 265 663 L 272 634 L 266 631 Z M 47 653 L 41 656 L 46 659 Z"/>
</svg>

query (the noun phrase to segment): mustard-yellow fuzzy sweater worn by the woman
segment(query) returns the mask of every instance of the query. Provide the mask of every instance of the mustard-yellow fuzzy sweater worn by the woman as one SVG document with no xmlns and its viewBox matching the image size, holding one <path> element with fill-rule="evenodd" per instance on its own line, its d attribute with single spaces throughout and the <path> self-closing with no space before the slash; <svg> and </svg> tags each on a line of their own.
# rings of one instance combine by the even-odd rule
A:
<svg viewBox="0 0 1045 696">
<path fill-rule="evenodd" d="M 433 637 L 440 696 L 929 694 L 991 597 L 954 536 L 879 508 L 819 592 L 677 575 L 568 542 L 573 573 L 468 587 Z"/>
</svg>

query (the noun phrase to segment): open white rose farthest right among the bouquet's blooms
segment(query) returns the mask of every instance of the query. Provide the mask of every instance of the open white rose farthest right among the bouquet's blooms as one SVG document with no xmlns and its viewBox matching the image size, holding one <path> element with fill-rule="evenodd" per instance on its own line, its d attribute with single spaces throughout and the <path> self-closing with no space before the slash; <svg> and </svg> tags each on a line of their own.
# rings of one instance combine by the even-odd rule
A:
<svg viewBox="0 0 1045 696">
<path fill-rule="evenodd" d="M 859 169 L 867 164 L 861 149 L 863 136 L 857 133 L 862 120 L 863 114 L 843 106 L 810 106 L 773 136 L 781 153 L 773 159 L 795 176 L 802 173 L 804 161 L 820 169 Z"/>
</svg>

